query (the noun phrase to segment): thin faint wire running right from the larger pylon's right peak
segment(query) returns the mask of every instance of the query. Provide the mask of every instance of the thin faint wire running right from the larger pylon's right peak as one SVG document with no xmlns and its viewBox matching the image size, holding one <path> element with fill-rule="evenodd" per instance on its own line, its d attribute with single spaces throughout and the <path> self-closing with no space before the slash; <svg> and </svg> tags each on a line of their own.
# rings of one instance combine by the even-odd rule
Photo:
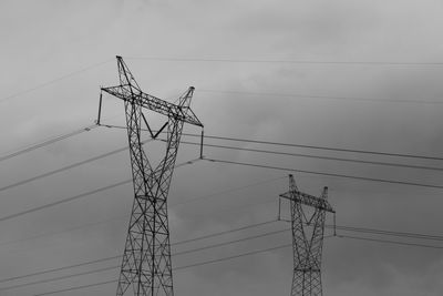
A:
<svg viewBox="0 0 443 296">
<path fill-rule="evenodd" d="M 370 99 L 370 98 L 354 98 L 354 96 L 331 96 L 331 95 L 312 95 L 312 94 L 297 94 L 297 93 L 276 93 L 276 92 L 245 92 L 245 91 L 223 91 L 223 90 L 208 90 L 199 89 L 199 92 L 208 93 L 226 93 L 239 95 L 269 95 L 280 98 L 298 98 L 298 99 L 320 99 L 333 101 L 353 101 L 353 102 L 377 102 L 377 103 L 413 103 L 413 104 L 443 104 L 443 101 L 421 101 L 421 100 L 393 100 L 393 99 Z"/>
</svg>

